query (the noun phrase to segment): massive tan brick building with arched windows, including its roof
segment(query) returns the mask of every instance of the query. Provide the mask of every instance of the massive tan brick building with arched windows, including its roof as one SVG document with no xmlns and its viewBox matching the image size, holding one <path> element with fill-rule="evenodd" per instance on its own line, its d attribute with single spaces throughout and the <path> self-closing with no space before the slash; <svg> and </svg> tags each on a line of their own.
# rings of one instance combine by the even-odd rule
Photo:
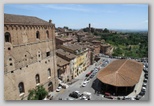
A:
<svg viewBox="0 0 154 106">
<path fill-rule="evenodd" d="M 4 99 L 26 99 L 28 90 L 58 86 L 55 25 L 32 16 L 4 14 Z"/>
</svg>

